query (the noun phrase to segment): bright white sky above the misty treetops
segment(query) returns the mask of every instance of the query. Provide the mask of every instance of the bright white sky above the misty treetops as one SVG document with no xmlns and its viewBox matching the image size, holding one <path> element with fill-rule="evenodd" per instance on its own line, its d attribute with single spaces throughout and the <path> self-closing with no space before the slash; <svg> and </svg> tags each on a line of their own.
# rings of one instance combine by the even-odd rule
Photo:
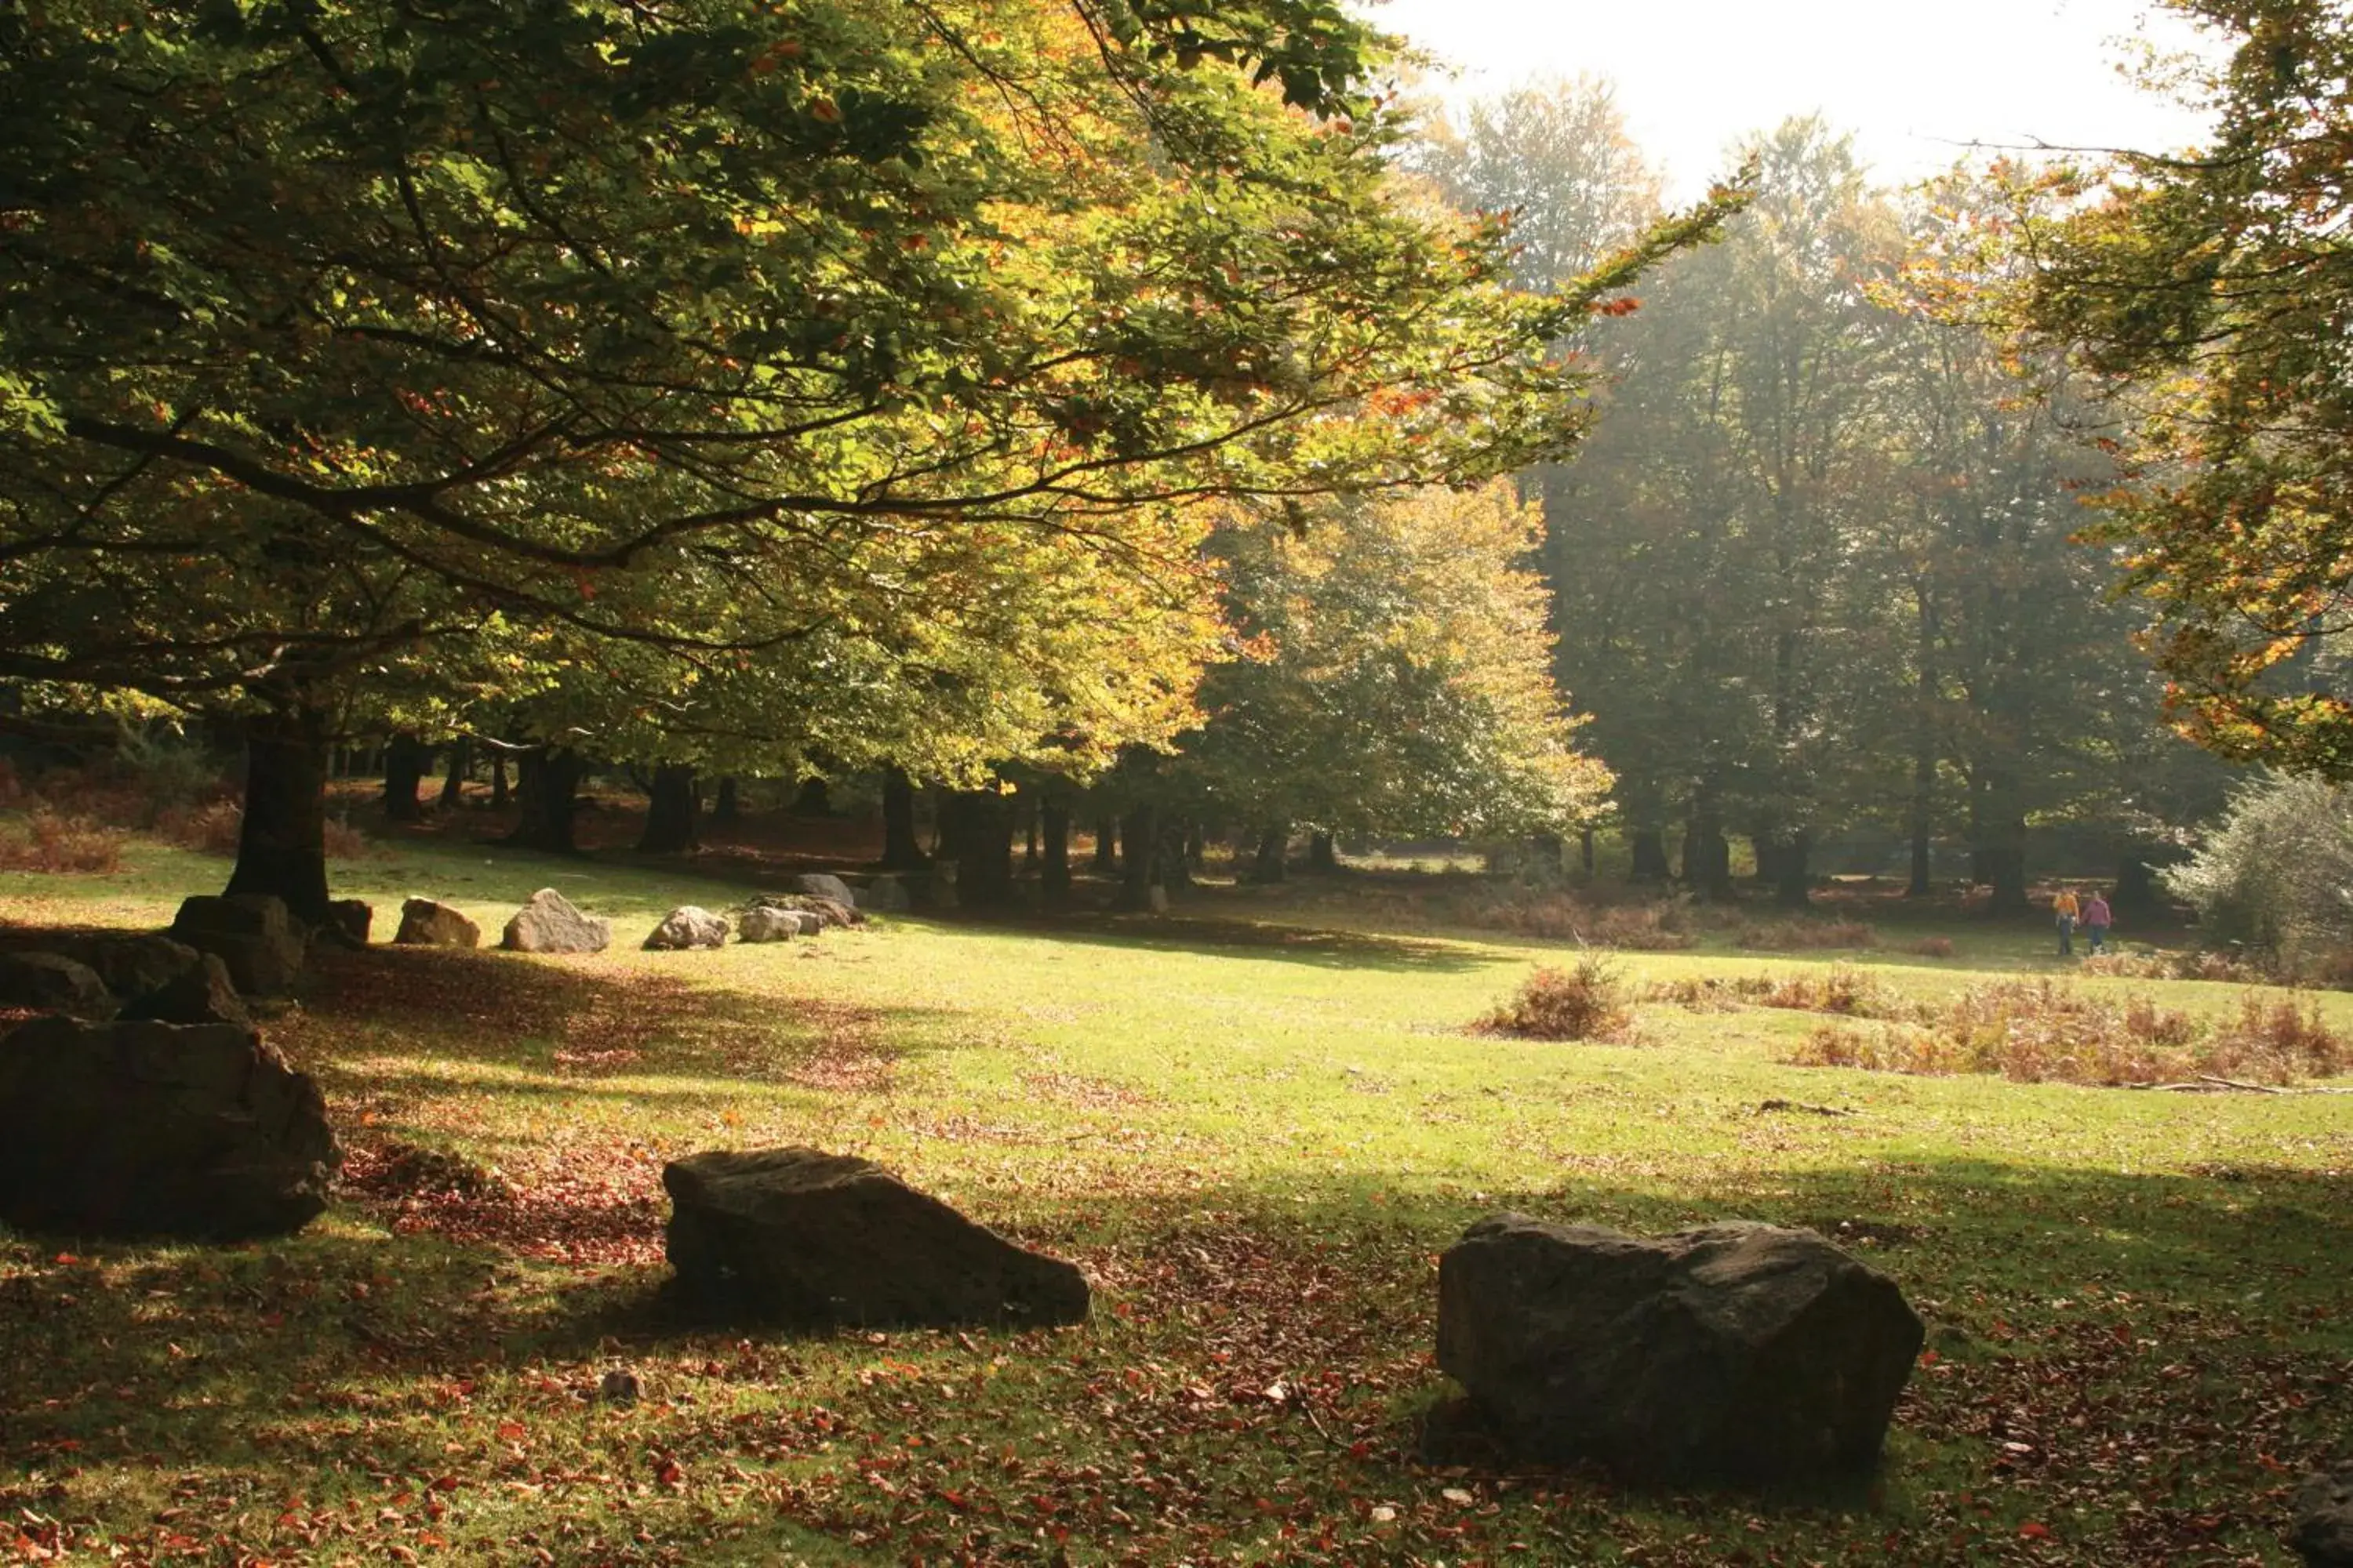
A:
<svg viewBox="0 0 2353 1568">
<path fill-rule="evenodd" d="M 1788 115 L 1854 132 L 1885 183 L 1965 143 L 2179 150 L 2205 120 L 2118 73 L 2132 40 L 2198 42 L 2144 0 L 1367 0 L 1372 19 L 1461 73 L 1445 94 L 1534 75 L 1617 82 L 1633 139 L 1678 200 L 1725 148 Z"/>
</svg>

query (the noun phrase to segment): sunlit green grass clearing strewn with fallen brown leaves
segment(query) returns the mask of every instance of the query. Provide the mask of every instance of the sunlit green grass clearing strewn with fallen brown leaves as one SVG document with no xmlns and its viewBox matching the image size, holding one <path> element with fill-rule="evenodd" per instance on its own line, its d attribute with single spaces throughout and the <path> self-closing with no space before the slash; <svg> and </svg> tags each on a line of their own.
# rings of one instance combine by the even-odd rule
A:
<svg viewBox="0 0 2353 1568">
<path fill-rule="evenodd" d="M 219 882 L 141 846 L 118 877 L 5 877 L 0 914 L 153 926 Z M 664 910 L 741 889 L 426 842 L 339 882 L 379 926 L 433 893 L 487 931 L 558 886 L 619 940 L 325 959 L 271 1037 L 351 1164 L 294 1241 L 0 1239 L 0 1559 L 2287 1563 L 2287 1490 L 2353 1443 L 2353 1098 L 1805 1070 L 1781 1058 L 1821 1020 L 1769 1009 L 1482 1037 L 1558 950 L 1393 905 L 1212 891 L 647 954 Z M 2040 926 L 1951 933 L 1953 959 L 1619 961 L 1842 959 L 1913 997 L 2057 969 Z M 2195 1013 L 2245 990 L 2082 985 Z M 2320 1006 L 2353 1030 L 2353 997 Z M 661 1161 L 772 1143 L 1078 1260 L 1094 1321 L 668 1324 Z M 499 1180 L 402 1192 L 395 1145 Z M 1497 1208 L 1802 1222 L 1887 1269 L 1932 1352 L 1880 1479 L 1664 1495 L 1431 1448 L 1435 1255 Z M 616 1366 L 635 1406 L 593 1399 Z"/>
</svg>

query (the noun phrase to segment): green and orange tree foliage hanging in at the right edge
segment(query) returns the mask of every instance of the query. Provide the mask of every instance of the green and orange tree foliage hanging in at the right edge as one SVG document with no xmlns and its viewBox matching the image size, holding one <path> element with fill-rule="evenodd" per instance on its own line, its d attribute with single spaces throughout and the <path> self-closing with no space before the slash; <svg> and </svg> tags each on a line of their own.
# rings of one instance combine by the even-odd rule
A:
<svg viewBox="0 0 2353 1568">
<path fill-rule="evenodd" d="M 2193 82 L 2209 148 L 2061 169 L 2021 214 L 2021 313 L 2106 376 L 2122 482 L 2104 538 L 2155 616 L 2181 731 L 2353 776 L 2353 28 L 2320 0 L 2177 0 L 2233 40 Z"/>
</svg>

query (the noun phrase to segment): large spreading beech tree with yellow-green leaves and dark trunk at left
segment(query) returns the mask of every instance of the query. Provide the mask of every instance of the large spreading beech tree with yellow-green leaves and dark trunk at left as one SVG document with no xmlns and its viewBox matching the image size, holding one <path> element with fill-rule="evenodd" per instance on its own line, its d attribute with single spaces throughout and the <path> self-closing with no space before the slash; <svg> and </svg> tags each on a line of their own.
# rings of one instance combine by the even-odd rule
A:
<svg viewBox="0 0 2353 1568">
<path fill-rule="evenodd" d="M 1388 197 L 1379 59 L 1337 0 L 12 7 L 0 675 L 242 722 L 231 886 L 313 917 L 386 663 L 1092 625 L 1181 696 L 1198 503 L 1558 451 L 1544 346 L 1718 216 L 1515 294 Z"/>
</svg>

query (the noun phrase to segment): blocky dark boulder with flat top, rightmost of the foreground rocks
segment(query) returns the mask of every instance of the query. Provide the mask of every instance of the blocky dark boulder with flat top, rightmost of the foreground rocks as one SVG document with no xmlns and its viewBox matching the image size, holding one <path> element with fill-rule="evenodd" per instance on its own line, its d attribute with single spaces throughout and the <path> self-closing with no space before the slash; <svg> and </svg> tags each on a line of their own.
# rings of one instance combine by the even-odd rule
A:
<svg viewBox="0 0 2353 1568">
<path fill-rule="evenodd" d="M 1438 1366 L 1506 1446 L 1642 1481 L 1866 1472 L 1920 1342 L 1894 1281 L 1809 1229 L 1506 1213 L 1438 1265 Z"/>
</svg>

